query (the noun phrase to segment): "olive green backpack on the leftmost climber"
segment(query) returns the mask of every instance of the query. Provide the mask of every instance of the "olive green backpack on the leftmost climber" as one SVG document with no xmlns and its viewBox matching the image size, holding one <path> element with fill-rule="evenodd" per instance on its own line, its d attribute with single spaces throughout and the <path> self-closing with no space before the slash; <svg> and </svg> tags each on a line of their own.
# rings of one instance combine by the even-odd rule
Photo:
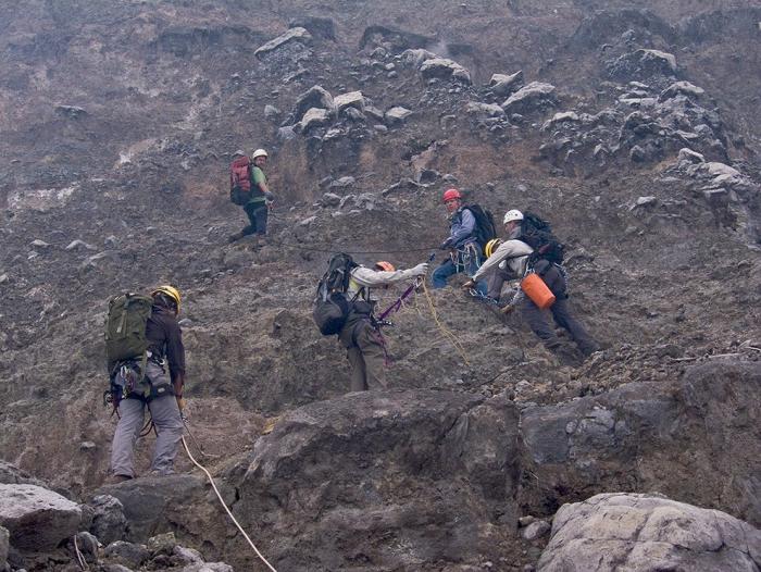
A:
<svg viewBox="0 0 761 572">
<path fill-rule="evenodd" d="M 121 361 L 146 359 L 146 324 L 151 316 L 153 298 L 140 294 L 122 294 L 109 300 L 105 316 L 105 359 L 109 375 Z M 145 363 L 144 363 L 145 371 Z"/>
</svg>

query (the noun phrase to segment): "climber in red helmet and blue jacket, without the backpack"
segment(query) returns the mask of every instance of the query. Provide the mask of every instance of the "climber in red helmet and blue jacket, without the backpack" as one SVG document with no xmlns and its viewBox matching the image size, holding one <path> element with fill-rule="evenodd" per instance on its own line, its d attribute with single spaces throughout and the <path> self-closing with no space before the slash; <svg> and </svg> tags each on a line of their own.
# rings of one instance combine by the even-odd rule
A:
<svg viewBox="0 0 761 572">
<path fill-rule="evenodd" d="M 450 256 L 431 276 L 434 288 L 444 288 L 447 281 L 460 272 L 473 276 L 481 264 L 482 245 L 478 245 L 476 219 L 471 210 L 462 204 L 462 195 L 458 189 L 444 192 L 444 204 L 449 213 L 449 237 L 441 243 L 440 250 L 449 250 Z M 479 285 L 478 290 L 485 290 Z"/>
</svg>

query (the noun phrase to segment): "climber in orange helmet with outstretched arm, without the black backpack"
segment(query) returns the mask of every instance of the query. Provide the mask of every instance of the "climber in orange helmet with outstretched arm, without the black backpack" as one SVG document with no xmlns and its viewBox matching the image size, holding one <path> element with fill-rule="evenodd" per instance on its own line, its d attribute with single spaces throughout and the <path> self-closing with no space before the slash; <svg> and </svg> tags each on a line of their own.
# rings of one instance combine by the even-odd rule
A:
<svg viewBox="0 0 761 572">
<path fill-rule="evenodd" d="M 377 262 L 373 269 L 354 266 L 346 293 L 351 311 L 338 339 L 347 350 L 351 366 L 351 391 L 386 387 L 386 347 L 380 326 L 375 319 L 376 300 L 371 288 L 389 286 L 410 278 L 424 277 L 428 264 L 417 264 L 410 270 L 396 270 L 386 261 Z"/>
</svg>

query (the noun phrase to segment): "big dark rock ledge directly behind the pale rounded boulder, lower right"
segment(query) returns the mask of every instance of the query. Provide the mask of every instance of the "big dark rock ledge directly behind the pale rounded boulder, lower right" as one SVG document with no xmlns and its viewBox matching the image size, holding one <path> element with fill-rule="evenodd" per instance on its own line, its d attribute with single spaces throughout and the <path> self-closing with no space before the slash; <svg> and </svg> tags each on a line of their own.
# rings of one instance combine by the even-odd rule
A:
<svg viewBox="0 0 761 572">
<path fill-rule="evenodd" d="M 603 490 L 658 489 L 761 522 L 761 370 L 722 360 L 522 411 L 522 498 L 535 510 Z"/>
</svg>

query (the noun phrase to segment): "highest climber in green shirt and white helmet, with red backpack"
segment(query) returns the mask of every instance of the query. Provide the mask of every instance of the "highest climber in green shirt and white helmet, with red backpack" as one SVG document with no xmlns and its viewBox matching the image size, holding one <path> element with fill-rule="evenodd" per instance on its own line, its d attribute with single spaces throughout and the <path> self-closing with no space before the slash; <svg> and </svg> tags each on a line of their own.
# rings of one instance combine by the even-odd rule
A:
<svg viewBox="0 0 761 572">
<path fill-rule="evenodd" d="M 234 156 L 229 167 L 229 199 L 234 204 L 244 208 L 249 225 L 229 236 L 227 239 L 229 243 L 254 235 L 254 248 L 264 244 L 270 206 L 275 200 L 264 175 L 267 158 L 264 149 L 253 151 L 251 159 L 242 151 L 236 151 Z"/>
</svg>

